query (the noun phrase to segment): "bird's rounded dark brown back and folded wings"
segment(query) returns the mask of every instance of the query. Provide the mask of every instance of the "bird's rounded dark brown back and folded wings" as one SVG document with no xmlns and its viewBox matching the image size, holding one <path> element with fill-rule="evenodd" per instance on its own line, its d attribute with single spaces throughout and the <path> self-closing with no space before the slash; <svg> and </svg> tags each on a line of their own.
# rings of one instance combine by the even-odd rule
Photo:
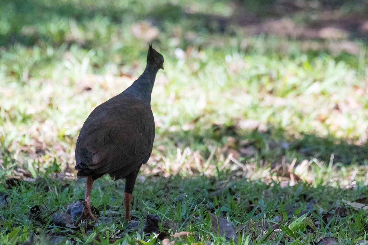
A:
<svg viewBox="0 0 368 245">
<path fill-rule="evenodd" d="M 138 167 L 151 155 L 154 136 L 151 108 L 140 101 L 99 105 L 79 133 L 75 149 L 78 175 L 112 173 L 127 165 Z"/>
</svg>

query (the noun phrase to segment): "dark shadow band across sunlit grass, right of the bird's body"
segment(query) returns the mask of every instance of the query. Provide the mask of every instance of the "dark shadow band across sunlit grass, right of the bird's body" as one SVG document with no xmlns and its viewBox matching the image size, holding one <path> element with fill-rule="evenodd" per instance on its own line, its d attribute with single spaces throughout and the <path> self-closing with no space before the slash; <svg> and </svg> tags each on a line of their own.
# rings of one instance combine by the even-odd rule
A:
<svg viewBox="0 0 368 245">
<path fill-rule="evenodd" d="M 316 158 L 318 161 L 329 163 L 368 164 L 368 144 L 366 139 L 360 139 L 360 144 L 351 139 L 333 136 L 321 137 L 318 133 L 295 134 L 278 126 L 268 126 L 268 130 L 241 130 L 236 125 L 212 125 L 210 129 L 195 128 L 193 130 L 179 130 L 166 132 L 161 137 L 167 137 L 176 142 L 180 148 L 197 146 L 204 157 L 210 155 L 208 145 L 215 145 L 224 149 L 225 153 L 233 153 L 241 162 L 250 159 L 261 160 L 266 163 L 281 163 L 285 157 L 287 162 L 294 158 L 297 162 L 304 159 Z"/>
</svg>

